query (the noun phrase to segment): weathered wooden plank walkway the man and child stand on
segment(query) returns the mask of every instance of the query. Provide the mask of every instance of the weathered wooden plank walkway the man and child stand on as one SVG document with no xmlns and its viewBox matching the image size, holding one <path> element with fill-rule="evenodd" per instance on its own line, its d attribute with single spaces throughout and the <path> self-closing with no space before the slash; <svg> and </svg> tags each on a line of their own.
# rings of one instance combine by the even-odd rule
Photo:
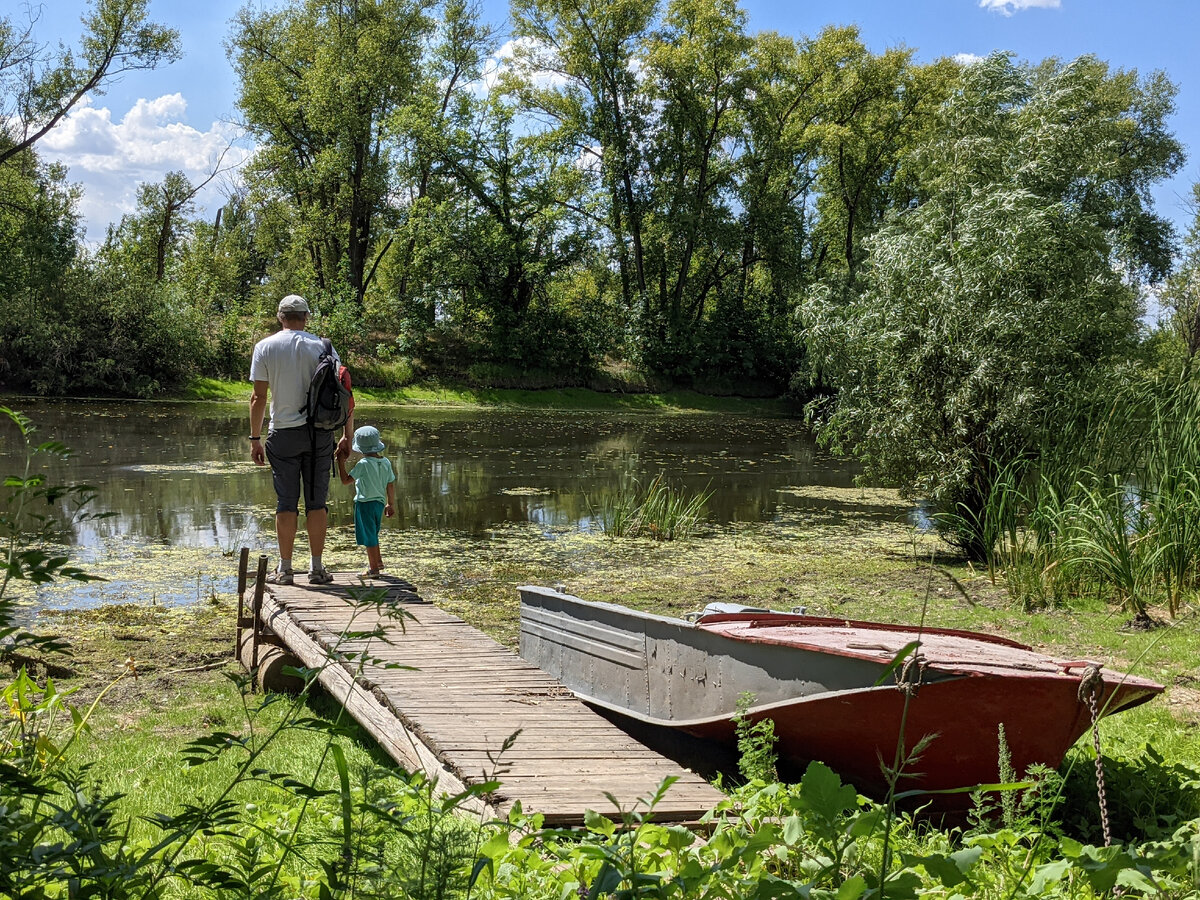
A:
<svg viewBox="0 0 1200 900">
<path fill-rule="evenodd" d="M 546 824 L 580 824 L 587 810 L 617 817 L 606 792 L 631 809 L 667 776 L 678 781 L 655 808 L 655 821 L 694 822 L 721 799 L 702 778 L 634 740 L 542 670 L 424 602 L 402 578 L 371 581 L 382 592 L 370 604 L 350 596 L 365 587 L 358 576 L 338 574 L 320 587 L 300 581 L 254 586 L 256 599 L 246 598 L 247 613 L 257 606 L 269 632 L 264 659 L 278 653 L 270 650 L 278 642 L 305 666 L 324 666 L 320 684 L 397 763 L 437 776 L 445 793 L 494 776 L 500 788 L 478 811 L 504 816 L 520 800 L 526 812 L 544 814 Z M 365 634 L 376 629 L 380 636 Z M 242 653 L 248 662 L 250 648 Z"/>
</svg>

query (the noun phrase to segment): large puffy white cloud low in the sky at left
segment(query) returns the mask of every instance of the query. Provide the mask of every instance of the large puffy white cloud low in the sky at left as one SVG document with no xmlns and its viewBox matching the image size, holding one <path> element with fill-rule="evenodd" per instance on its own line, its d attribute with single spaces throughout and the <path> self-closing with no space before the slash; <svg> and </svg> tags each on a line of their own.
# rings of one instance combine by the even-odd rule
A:
<svg viewBox="0 0 1200 900">
<path fill-rule="evenodd" d="M 37 143 L 43 160 L 64 163 L 67 178 L 83 186 L 79 214 L 90 240 L 100 240 L 109 222 L 133 211 L 139 184 L 161 181 L 173 170 L 199 182 L 209 176 L 222 152 L 222 169 L 236 168 L 250 158 L 252 149 L 230 148 L 240 136 L 236 126 L 212 122 L 208 131 L 198 131 L 185 122 L 186 113 L 184 95 L 168 94 L 137 101 L 114 122 L 110 109 L 85 100 Z M 221 202 L 220 180 L 197 196 L 199 206 Z"/>
</svg>

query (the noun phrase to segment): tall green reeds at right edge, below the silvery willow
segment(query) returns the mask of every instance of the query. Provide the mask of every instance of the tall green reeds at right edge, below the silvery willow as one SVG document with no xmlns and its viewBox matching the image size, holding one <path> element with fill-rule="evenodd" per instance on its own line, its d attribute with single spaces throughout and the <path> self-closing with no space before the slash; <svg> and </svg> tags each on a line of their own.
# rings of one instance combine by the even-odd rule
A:
<svg viewBox="0 0 1200 900">
<path fill-rule="evenodd" d="M 976 536 L 1027 610 L 1094 596 L 1134 624 L 1151 607 L 1178 616 L 1200 586 L 1200 385 L 1135 384 L 1067 419 L 1037 458 L 992 473 L 980 511 L 943 526 Z"/>
</svg>

